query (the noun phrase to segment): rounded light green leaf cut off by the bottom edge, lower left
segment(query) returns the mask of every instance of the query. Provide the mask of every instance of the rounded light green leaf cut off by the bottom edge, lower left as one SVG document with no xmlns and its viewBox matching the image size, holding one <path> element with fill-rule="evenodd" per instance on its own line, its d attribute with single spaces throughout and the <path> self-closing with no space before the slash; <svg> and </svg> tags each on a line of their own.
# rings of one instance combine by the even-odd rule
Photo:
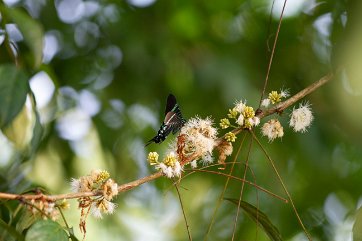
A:
<svg viewBox="0 0 362 241">
<path fill-rule="evenodd" d="M 68 241 L 68 235 L 59 223 L 40 220 L 30 227 L 25 241 Z"/>
</svg>

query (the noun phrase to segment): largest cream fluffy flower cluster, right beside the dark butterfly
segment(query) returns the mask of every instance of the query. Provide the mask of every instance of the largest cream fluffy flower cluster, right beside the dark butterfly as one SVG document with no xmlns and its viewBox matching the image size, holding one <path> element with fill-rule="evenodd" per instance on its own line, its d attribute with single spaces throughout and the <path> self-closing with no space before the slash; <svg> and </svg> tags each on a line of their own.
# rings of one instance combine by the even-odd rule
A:
<svg viewBox="0 0 362 241">
<path fill-rule="evenodd" d="M 191 164 L 197 167 L 197 160 L 204 164 L 213 162 L 212 151 L 215 148 L 217 129 L 210 118 L 191 118 L 181 128 L 177 142 L 173 143 L 166 157 L 159 162 L 156 152 L 148 154 L 148 162 L 168 178 L 180 177 L 183 167 Z"/>
</svg>

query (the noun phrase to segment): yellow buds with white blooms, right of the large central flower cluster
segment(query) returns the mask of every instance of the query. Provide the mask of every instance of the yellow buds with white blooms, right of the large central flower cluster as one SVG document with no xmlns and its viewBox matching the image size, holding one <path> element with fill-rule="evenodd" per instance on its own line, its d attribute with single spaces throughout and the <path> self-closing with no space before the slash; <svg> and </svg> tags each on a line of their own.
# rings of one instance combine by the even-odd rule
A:
<svg viewBox="0 0 362 241">
<path fill-rule="evenodd" d="M 253 107 L 247 106 L 243 101 L 238 101 L 235 103 L 234 108 L 229 109 L 228 118 L 220 120 L 220 127 L 222 129 L 227 129 L 229 127 L 242 127 L 244 129 L 251 129 L 254 126 L 259 125 L 260 119 L 255 116 L 255 111 Z M 230 123 L 230 119 L 234 119 L 237 126 L 234 126 Z M 235 136 L 229 132 L 225 138 L 228 141 L 235 141 Z"/>
</svg>

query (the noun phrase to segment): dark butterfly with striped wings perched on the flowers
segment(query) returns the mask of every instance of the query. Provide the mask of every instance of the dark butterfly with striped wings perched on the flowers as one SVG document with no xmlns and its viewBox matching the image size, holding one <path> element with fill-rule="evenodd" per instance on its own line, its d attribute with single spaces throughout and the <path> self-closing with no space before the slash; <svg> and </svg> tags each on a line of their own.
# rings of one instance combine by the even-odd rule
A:
<svg viewBox="0 0 362 241">
<path fill-rule="evenodd" d="M 182 117 L 180 107 L 176 101 L 176 97 L 173 94 L 169 94 L 167 97 L 167 104 L 165 109 L 165 119 L 160 129 L 158 130 L 157 135 L 149 140 L 146 146 L 152 142 L 163 142 L 171 132 L 172 134 L 176 134 L 185 123 L 186 120 Z"/>
</svg>

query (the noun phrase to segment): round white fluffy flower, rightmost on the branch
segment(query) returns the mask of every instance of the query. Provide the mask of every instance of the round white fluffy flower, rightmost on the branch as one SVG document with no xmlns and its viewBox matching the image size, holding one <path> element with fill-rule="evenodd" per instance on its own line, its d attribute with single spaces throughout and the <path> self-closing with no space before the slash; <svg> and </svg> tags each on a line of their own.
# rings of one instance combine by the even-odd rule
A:
<svg viewBox="0 0 362 241">
<path fill-rule="evenodd" d="M 307 127 L 313 121 L 313 114 L 310 108 L 310 104 L 300 104 L 299 108 L 293 109 L 290 115 L 289 125 L 293 127 L 295 132 L 306 132 Z"/>
</svg>

